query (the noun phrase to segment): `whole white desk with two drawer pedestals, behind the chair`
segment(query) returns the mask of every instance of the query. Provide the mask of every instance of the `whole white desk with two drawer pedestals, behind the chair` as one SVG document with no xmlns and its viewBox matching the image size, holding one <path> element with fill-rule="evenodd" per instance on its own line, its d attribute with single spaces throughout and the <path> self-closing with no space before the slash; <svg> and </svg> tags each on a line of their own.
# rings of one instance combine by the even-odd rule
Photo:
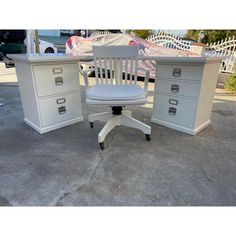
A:
<svg viewBox="0 0 236 236">
<path fill-rule="evenodd" d="M 24 121 L 45 133 L 83 120 L 78 61 L 92 56 L 12 54 Z M 188 134 L 210 124 L 222 58 L 142 56 L 156 61 L 151 121 Z"/>
</svg>

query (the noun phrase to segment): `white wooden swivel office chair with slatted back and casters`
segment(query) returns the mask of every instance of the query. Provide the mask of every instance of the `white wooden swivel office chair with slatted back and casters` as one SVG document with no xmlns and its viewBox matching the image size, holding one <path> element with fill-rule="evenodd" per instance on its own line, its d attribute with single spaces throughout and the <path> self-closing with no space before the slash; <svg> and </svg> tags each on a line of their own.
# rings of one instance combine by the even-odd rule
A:
<svg viewBox="0 0 236 236">
<path fill-rule="evenodd" d="M 116 126 L 125 125 L 141 130 L 146 140 L 151 139 L 151 127 L 132 118 L 126 105 L 144 105 L 147 97 L 149 71 L 138 68 L 138 46 L 93 46 L 96 85 L 89 88 L 88 73 L 83 72 L 86 85 L 86 103 L 108 105 L 111 112 L 88 116 L 90 126 L 94 121 L 107 122 L 98 134 L 100 148 L 104 149 L 106 135 Z M 145 71 L 144 87 L 137 84 L 137 71 Z"/>
</svg>

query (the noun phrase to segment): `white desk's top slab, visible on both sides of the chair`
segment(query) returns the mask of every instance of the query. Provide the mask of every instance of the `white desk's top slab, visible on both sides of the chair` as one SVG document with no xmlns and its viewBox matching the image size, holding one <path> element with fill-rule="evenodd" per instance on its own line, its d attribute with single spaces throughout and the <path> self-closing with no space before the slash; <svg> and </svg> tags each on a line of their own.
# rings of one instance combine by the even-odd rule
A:
<svg viewBox="0 0 236 236">
<path fill-rule="evenodd" d="M 13 61 L 23 62 L 59 62 L 59 61 L 92 61 L 92 55 L 68 55 L 65 53 L 45 53 L 45 54 L 8 54 Z M 138 57 L 139 60 L 155 60 L 158 62 L 220 62 L 223 57 L 205 57 L 205 56 L 189 56 L 189 57 L 171 57 L 171 56 L 143 56 Z"/>
</svg>

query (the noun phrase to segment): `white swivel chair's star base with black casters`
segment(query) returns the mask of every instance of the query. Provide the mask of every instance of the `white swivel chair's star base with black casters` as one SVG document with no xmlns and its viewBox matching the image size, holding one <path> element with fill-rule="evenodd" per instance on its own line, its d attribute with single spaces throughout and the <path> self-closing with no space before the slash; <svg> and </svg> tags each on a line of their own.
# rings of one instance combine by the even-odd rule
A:
<svg viewBox="0 0 236 236">
<path fill-rule="evenodd" d="M 102 150 L 104 149 L 104 140 L 107 134 L 116 126 L 120 125 L 139 129 L 145 134 L 147 141 L 151 140 L 151 127 L 134 119 L 132 117 L 131 111 L 124 110 L 122 112 L 122 110 L 122 106 L 113 106 L 112 112 L 102 112 L 89 115 L 89 122 L 91 128 L 93 128 L 94 121 L 106 122 L 105 126 L 98 134 L 98 143 Z"/>
</svg>

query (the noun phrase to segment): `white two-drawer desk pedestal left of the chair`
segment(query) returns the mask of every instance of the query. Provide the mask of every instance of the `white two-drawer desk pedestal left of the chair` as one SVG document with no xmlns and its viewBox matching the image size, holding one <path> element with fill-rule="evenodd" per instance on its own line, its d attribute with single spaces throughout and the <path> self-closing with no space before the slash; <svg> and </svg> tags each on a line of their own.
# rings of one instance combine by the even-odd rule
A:
<svg viewBox="0 0 236 236">
<path fill-rule="evenodd" d="M 40 134 L 83 120 L 78 58 L 11 55 L 24 121 Z"/>
</svg>

